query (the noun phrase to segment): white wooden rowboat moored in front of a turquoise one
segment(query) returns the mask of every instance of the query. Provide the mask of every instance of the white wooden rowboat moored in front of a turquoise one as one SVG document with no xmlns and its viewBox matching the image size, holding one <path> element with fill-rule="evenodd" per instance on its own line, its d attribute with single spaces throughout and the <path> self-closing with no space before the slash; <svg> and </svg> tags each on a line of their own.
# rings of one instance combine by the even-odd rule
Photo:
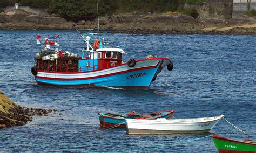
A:
<svg viewBox="0 0 256 153">
<path fill-rule="evenodd" d="M 127 134 L 178 134 L 210 131 L 224 115 L 194 119 L 126 120 Z"/>
</svg>

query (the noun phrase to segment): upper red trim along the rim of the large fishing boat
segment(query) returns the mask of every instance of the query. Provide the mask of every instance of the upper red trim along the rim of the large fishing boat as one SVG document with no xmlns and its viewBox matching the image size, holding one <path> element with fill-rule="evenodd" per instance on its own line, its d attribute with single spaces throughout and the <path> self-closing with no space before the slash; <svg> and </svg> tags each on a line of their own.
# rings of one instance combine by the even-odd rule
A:
<svg viewBox="0 0 256 153">
<path fill-rule="evenodd" d="M 140 59 L 140 60 L 137 60 L 136 62 L 139 62 L 139 61 L 145 61 L 145 60 L 170 60 L 169 58 L 150 58 L 150 59 Z M 171 60 L 170 60 L 171 61 Z M 44 71 L 44 70 L 37 70 L 38 72 L 47 72 L 47 73 L 62 73 L 62 74 L 77 74 L 77 73 L 89 73 L 89 72 L 96 72 L 96 71 L 102 71 L 102 70 L 105 70 L 105 69 L 109 69 L 109 68 L 113 68 L 113 67 L 118 67 L 118 66 L 122 66 L 122 65 L 127 65 L 127 62 L 124 63 L 124 64 L 120 64 L 120 65 L 116 65 L 116 66 L 111 66 L 111 67 L 107 67 L 107 68 L 103 68 L 103 69 L 96 69 L 94 71 L 85 71 L 85 72 L 55 72 L 55 71 Z"/>
</svg>

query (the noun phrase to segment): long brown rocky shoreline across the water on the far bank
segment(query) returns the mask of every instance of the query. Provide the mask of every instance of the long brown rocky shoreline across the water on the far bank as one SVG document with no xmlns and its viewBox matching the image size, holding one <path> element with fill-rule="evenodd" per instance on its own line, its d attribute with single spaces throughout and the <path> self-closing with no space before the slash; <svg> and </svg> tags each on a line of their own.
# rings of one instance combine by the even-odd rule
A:
<svg viewBox="0 0 256 153">
<path fill-rule="evenodd" d="M 0 29 L 66 30 L 72 29 L 73 24 L 77 24 L 78 29 L 98 29 L 97 18 L 74 23 L 46 12 L 39 15 L 21 10 L 0 13 Z M 255 26 L 241 27 L 252 24 Z M 99 17 L 99 25 L 100 30 L 111 30 L 113 33 L 127 33 L 130 30 L 130 33 L 140 34 L 256 34 L 253 29 L 256 27 L 256 18 L 246 15 L 235 19 L 217 17 L 194 19 L 171 11 L 160 14 L 133 12 Z"/>
</svg>

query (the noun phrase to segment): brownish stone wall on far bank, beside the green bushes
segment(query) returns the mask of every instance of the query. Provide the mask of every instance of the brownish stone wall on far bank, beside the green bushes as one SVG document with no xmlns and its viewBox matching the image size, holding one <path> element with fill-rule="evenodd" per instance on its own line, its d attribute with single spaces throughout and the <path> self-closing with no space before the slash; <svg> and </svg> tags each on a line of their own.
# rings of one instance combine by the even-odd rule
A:
<svg viewBox="0 0 256 153">
<path fill-rule="evenodd" d="M 202 18 L 231 18 L 233 0 L 206 0 L 205 4 L 189 5 L 185 8 L 196 8 Z"/>
</svg>

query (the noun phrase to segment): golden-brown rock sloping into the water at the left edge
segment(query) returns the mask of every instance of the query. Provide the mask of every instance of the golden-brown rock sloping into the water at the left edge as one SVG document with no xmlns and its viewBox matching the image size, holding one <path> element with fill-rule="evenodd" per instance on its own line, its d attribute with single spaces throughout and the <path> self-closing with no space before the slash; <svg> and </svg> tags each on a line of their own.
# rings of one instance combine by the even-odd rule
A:
<svg viewBox="0 0 256 153">
<path fill-rule="evenodd" d="M 12 102 L 0 91 L 0 128 L 21 126 L 30 121 L 21 106 Z"/>
</svg>

